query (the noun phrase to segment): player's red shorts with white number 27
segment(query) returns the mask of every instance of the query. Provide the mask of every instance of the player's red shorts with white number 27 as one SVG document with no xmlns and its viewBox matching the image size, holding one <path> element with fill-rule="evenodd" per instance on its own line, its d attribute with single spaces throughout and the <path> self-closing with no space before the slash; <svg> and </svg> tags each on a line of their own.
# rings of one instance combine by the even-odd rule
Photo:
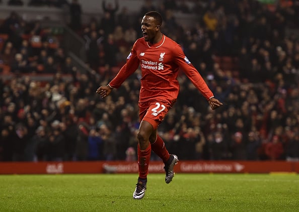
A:
<svg viewBox="0 0 299 212">
<path fill-rule="evenodd" d="M 154 130 L 164 120 L 171 106 L 168 103 L 157 101 L 139 102 L 139 120 L 153 125 Z"/>
</svg>

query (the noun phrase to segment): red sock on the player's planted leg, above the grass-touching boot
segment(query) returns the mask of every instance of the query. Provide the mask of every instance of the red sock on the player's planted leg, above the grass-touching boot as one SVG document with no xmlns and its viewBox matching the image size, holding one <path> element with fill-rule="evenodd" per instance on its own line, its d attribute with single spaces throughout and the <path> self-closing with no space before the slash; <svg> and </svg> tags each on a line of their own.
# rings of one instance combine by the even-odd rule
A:
<svg viewBox="0 0 299 212">
<path fill-rule="evenodd" d="M 148 164 L 151 159 L 151 145 L 145 150 L 140 150 L 139 144 L 137 146 L 137 155 L 138 155 L 138 169 L 139 169 L 139 178 L 145 179 L 148 174 Z"/>
</svg>

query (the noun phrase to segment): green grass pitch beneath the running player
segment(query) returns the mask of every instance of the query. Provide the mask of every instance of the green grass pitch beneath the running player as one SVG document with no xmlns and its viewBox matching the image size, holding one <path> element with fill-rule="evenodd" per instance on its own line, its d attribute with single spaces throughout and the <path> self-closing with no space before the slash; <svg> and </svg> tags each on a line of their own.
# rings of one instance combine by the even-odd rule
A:
<svg viewBox="0 0 299 212">
<path fill-rule="evenodd" d="M 141 200 L 137 174 L 0 175 L 0 211 L 299 211 L 298 175 L 149 174 Z"/>
</svg>

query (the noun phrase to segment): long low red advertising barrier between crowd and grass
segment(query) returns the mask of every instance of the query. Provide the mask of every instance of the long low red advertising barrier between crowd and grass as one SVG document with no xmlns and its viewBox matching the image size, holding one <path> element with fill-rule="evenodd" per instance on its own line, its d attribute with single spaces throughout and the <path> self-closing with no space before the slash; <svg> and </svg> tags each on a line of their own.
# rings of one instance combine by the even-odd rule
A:
<svg viewBox="0 0 299 212">
<path fill-rule="evenodd" d="M 162 162 L 152 161 L 150 173 L 163 173 Z M 137 173 L 136 162 L 2 162 L 0 174 Z M 176 173 L 299 173 L 299 162 L 179 161 Z"/>
</svg>

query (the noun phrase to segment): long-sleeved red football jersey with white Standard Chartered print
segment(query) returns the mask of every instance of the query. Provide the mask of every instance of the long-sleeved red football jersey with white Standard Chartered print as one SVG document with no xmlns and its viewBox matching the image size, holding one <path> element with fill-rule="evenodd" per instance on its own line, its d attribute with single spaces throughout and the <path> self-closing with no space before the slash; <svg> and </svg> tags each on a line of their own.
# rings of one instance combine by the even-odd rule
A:
<svg viewBox="0 0 299 212">
<path fill-rule="evenodd" d="M 109 85 L 118 88 L 139 64 L 142 73 L 139 94 L 141 102 L 159 99 L 172 105 L 179 94 L 180 85 L 177 80 L 179 67 L 207 100 L 213 96 L 201 75 L 185 56 L 181 46 L 165 35 L 156 44 L 139 38 L 134 43 L 126 64 Z"/>
</svg>

